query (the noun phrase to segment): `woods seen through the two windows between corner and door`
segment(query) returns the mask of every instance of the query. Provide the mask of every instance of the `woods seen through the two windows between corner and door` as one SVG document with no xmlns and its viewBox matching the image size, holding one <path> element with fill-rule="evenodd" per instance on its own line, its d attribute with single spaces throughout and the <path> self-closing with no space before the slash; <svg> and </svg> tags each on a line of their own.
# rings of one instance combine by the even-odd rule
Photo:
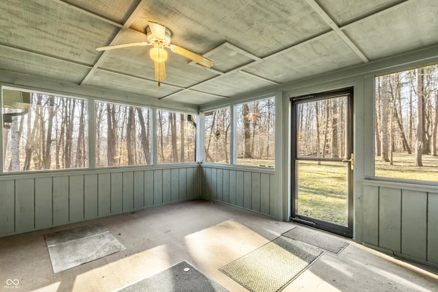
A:
<svg viewBox="0 0 438 292">
<path fill-rule="evenodd" d="M 205 161 L 230 163 L 231 108 L 205 113 Z M 235 106 L 237 164 L 274 167 L 275 98 Z"/>
</svg>

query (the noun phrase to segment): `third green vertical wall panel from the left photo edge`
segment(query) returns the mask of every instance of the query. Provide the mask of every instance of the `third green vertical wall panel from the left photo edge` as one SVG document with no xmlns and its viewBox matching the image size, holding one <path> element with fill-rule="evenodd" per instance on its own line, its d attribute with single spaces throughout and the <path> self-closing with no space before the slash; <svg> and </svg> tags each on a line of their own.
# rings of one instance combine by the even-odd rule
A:
<svg viewBox="0 0 438 292">
<path fill-rule="evenodd" d="M 35 179 L 35 228 L 45 228 L 52 222 L 52 178 Z"/>
</svg>

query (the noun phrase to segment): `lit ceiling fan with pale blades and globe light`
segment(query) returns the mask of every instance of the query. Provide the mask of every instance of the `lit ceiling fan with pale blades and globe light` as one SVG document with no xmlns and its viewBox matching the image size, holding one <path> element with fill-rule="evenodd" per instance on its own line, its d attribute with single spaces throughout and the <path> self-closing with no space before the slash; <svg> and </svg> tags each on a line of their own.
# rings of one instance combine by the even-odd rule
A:
<svg viewBox="0 0 438 292">
<path fill-rule="evenodd" d="M 160 25 L 158 23 L 153 23 L 149 21 L 149 26 L 146 27 L 146 38 L 147 42 L 131 42 L 129 44 L 114 44 L 112 46 L 99 47 L 96 51 L 106 51 L 112 49 L 120 49 L 126 47 L 136 47 L 136 46 L 153 46 L 153 48 L 149 51 L 151 59 L 154 62 L 155 68 L 155 79 L 158 81 L 158 86 L 160 85 L 160 81 L 166 79 L 166 66 L 164 62 L 167 59 L 167 51 L 164 48 L 169 48 L 171 51 L 182 55 L 192 61 L 201 64 L 207 68 L 213 66 L 213 63 L 201 55 L 193 53 L 188 49 L 184 49 L 183 47 L 179 47 L 176 44 L 170 43 L 171 32 L 168 28 Z"/>
</svg>

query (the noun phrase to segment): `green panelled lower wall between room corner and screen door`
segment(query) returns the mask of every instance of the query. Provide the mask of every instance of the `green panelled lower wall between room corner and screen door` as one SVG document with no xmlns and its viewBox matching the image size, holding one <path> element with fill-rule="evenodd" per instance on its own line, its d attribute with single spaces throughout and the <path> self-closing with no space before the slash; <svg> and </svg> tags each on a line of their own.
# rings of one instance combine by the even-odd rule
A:
<svg viewBox="0 0 438 292">
<path fill-rule="evenodd" d="M 201 174 L 201 194 L 205 200 L 223 202 L 270 216 L 278 212 L 272 169 L 202 165 Z"/>
</svg>

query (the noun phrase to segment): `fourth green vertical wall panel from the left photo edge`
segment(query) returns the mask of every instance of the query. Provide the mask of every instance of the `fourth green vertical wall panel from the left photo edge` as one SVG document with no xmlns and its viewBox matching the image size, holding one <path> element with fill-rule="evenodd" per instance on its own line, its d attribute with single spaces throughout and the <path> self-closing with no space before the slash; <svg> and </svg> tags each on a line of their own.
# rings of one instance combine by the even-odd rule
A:
<svg viewBox="0 0 438 292">
<path fill-rule="evenodd" d="M 53 225 L 67 224 L 69 211 L 68 176 L 55 176 L 53 178 Z"/>
</svg>

